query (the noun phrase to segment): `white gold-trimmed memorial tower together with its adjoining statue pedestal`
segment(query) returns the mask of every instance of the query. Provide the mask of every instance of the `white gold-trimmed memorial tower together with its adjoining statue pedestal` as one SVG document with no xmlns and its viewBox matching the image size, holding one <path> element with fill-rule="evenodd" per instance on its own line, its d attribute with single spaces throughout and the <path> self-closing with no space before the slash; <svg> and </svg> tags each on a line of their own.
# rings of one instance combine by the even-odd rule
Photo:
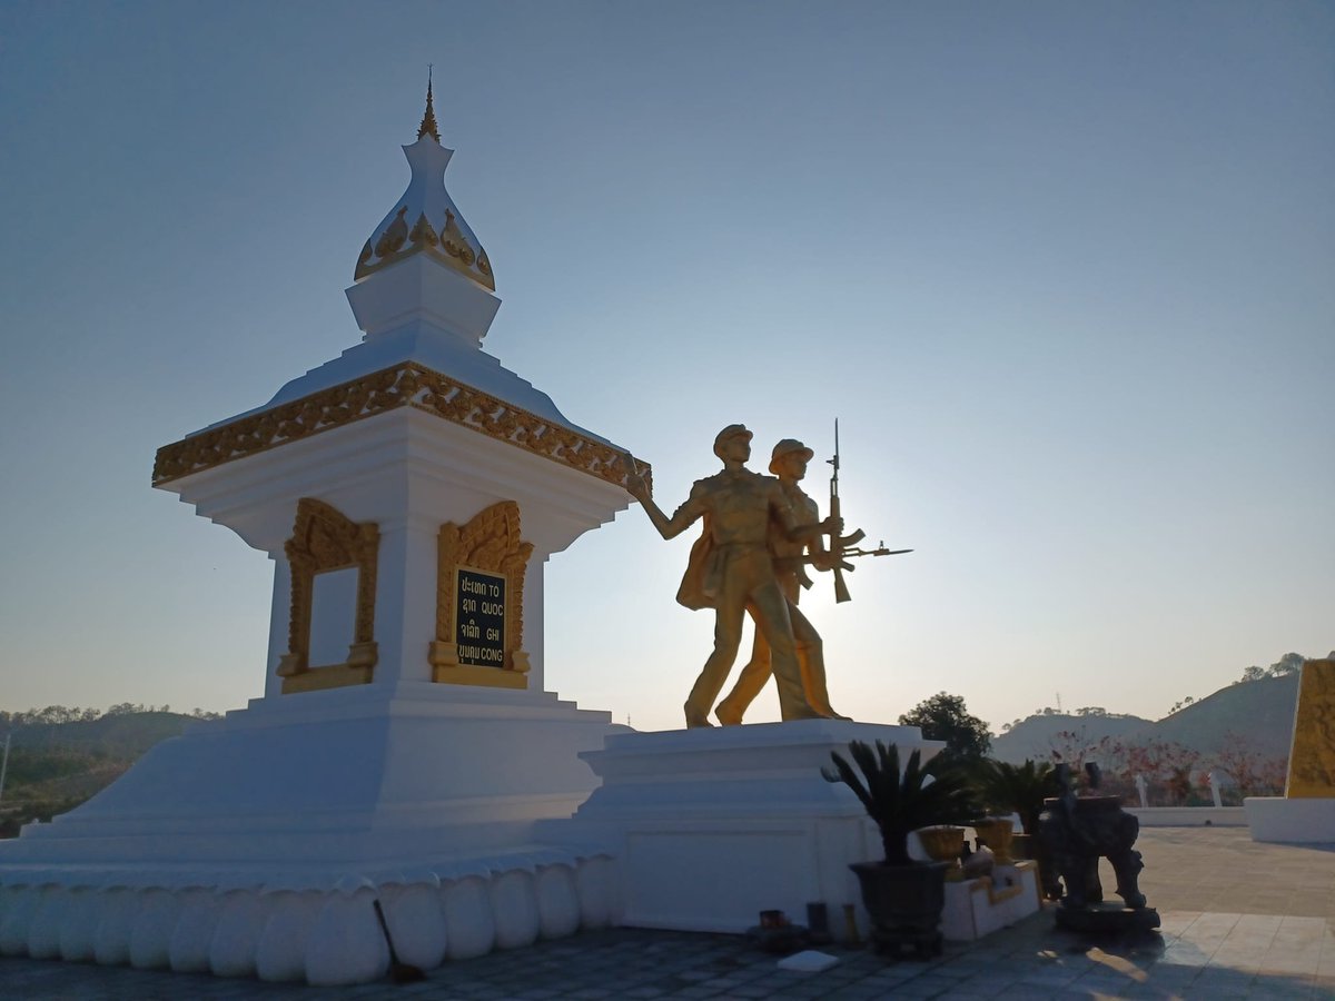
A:
<svg viewBox="0 0 1335 1001">
<path fill-rule="evenodd" d="M 914 727 L 637 734 L 547 690 L 543 567 L 627 507 L 622 450 L 482 350 L 501 300 L 430 88 L 403 151 L 360 342 L 154 468 L 274 563 L 264 695 L 0 842 L 0 954 L 348 984 L 388 964 L 372 900 L 427 969 L 856 900 L 878 841 L 820 766 Z"/>
</svg>

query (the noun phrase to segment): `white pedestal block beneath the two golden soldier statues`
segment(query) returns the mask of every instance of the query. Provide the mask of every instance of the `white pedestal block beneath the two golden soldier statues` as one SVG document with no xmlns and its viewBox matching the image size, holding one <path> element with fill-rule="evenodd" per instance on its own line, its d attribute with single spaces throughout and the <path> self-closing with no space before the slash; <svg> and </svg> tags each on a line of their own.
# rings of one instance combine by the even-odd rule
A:
<svg viewBox="0 0 1335 1001">
<path fill-rule="evenodd" d="M 849 864 L 882 854 L 853 791 L 821 777 L 854 739 L 904 757 L 944 746 L 913 726 L 838 719 L 618 734 L 581 755 L 602 785 L 538 836 L 618 860 L 625 925 L 745 932 L 761 910 L 801 922 L 825 902 L 838 934 L 837 914 L 860 901 Z"/>
</svg>

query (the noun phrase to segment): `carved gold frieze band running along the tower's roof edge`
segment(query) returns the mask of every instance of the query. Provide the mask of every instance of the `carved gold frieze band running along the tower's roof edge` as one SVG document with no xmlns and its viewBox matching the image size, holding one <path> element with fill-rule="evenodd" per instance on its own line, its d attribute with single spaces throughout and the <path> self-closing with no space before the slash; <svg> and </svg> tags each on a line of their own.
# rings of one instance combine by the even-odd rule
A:
<svg viewBox="0 0 1335 1001">
<path fill-rule="evenodd" d="M 417 363 L 372 372 L 158 450 L 154 484 L 222 466 L 398 407 L 414 407 L 562 466 L 625 486 L 610 446 L 505 403 Z M 651 472 L 641 467 L 646 479 Z"/>
</svg>

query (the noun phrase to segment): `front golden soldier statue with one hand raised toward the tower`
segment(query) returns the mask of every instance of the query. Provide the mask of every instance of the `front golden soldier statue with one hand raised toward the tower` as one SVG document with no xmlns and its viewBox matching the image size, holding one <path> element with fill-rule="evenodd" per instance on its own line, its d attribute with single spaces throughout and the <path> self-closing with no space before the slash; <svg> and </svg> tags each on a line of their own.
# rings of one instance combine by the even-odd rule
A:
<svg viewBox="0 0 1335 1001">
<path fill-rule="evenodd" d="M 689 609 L 714 609 L 714 651 L 686 699 L 686 726 L 712 726 L 709 710 L 728 681 L 742 639 L 748 607 L 770 649 L 784 719 L 812 719 L 822 714 L 806 699 L 793 641 L 793 623 L 774 574 L 770 522 L 794 543 L 821 533 L 838 533 L 838 519 L 800 525 L 777 479 L 746 468 L 752 432 L 729 424 L 714 439 L 714 455 L 724 471 L 697 480 L 690 496 L 668 518 L 627 458 L 626 490 L 639 500 L 649 521 L 665 539 L 680 535 L 697 521 L 705 530 L 690 551 L 677 601 Z"/>
</svg>

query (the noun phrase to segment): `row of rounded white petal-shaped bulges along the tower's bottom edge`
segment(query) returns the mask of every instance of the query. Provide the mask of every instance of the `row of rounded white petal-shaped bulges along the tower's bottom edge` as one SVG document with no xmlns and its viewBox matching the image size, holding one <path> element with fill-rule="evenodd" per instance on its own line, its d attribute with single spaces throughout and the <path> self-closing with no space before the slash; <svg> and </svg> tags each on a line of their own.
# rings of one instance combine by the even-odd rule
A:
<svg viewBox="0 0 1335 1001">
<path fill-rule="evenodd" d="M 247 884 L 240 873 L 230 884 L 162 882 L 147 868 L 7 872 L 0 956 L 362 984 L 383 977 L 390 962 L 376 897 L 399 960 L 422 969 L 605 928 L 618 906 L 611 860 L 542 848 L 380 885 L 360 877 L 324 889 Z"/>
</svg>

